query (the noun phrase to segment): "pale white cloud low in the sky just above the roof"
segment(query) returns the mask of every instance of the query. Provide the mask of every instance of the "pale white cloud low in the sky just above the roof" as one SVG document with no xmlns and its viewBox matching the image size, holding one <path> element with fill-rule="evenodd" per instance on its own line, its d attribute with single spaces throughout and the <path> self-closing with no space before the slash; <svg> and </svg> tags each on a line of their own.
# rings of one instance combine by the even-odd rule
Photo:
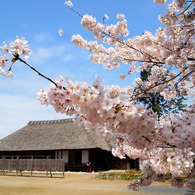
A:
<svg viewBox="0 0 195 195">
<path fill-rule="evenodd" d="M 32 120 L 54 120 L 67 118 L 53 108 L 27 96 L 1 94 L 0 139 L 27 125 Z"/>
</svg>

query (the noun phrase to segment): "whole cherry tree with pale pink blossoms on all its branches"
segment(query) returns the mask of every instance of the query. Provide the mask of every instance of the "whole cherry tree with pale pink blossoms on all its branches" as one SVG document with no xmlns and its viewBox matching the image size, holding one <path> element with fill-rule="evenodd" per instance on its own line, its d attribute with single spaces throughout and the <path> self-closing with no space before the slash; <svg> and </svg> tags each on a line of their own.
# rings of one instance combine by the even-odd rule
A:
<svg viewBox="0 0 195 195">
<path fill-rule="evenodd" d="M 165 1 L 155 0 L 154 3 Z M 10 47 L 3 43 L 0 48 L 4 52 L 0 57 L 0 73 L 12 77 L 11 69 L 15 61 L 29 66 L 52 83 L 50 89 L 41 89 L 38 93 L 43 105 L 52 105 L 56 112 L 76 116 L 76 122 L 82 122 L 89 131 L 98 132 L 107 139 L 115 138 L 112 143 L 114 156 L 142 159 L 141 170 L 144 174 L 130 183 L 130 189 L 138 190 L 153 181 L 164 181 L 167 173 L 172 175 L 170 182 L 173 186 L 185 184 L 194 188 L 194 103 L 187 112 L 168 114 L 158 120 L 156 113 L 135 104 L 135 101 L 154 92 L 170 102 L 176 96 L 194 97 L 195 1 L 173 1 L 168 5 L 166 14 L 159 16 L 163 28 L 157 29 L 155 35 L 145 31 L 142 36 L 134 38 L 128 38 L 127 20 L 123 14 L 117 14 L 116 24 L 106 25 L 105 20 L 109 19 L 106 14 L 100 23 L 93 16 L 82 16 L 74 10 L 71 1 L 65 4 L 81 17 L 81 25 L 96 39 L 88 41 L 79 34 L 71 37 L 73 44 L 91 53 L 93 63 L 103 64 L 109 70 L 128 64 L 130 69 L 119 75 L 120 79 L 150 69 L 148 80 L 136 78 L 133 82 L 136 90 L 130 86 L 102 86 L 99 76 L 95 76 L 92 85 L 73 82 L 71 78 L 62 76 L 53 81 L 22 59 L 21 55 L 28 58 L 31 50 L 25 38 L 18 37 L 10 43 Z M 59 34 L 66 35 L 63 30 L 59 30 Z M 8 54 L 12 58 L 7 58 Z M 11 65 L 6 71 L 9 63 Z M 187 178 L 181 179 L 181 175 Z"/>
</svg>

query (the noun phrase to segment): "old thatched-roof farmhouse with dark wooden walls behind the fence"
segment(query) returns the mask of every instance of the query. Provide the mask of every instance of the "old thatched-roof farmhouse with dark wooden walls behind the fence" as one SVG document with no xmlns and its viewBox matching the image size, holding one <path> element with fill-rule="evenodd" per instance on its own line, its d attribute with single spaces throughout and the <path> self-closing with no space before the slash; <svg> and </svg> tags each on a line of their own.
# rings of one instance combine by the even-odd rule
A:
<svg viewBox="0 0 195 195">
<path fill-rule="evenodd" d="M 30 121 L 25 127 L 0 140 L 0 159 L 64 159 L 66 170 L 126 169 L 130 159 L 111 154 L 109 143 L 96 133 L 77 126 L 72 119 Z M 132 167 L 131 165 L 131 167 Z"/>
</svg>

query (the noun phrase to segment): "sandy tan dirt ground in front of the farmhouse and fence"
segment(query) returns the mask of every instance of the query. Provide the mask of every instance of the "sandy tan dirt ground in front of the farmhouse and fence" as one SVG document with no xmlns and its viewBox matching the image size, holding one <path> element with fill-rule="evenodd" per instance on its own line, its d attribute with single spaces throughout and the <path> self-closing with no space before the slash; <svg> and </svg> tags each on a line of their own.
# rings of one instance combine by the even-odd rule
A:
<svg viewBox="0 0 195 195">
<path fill-rule="evenodd" d="M 46 178 L 45 175 L 36 175 L 30 177 L 26 176 L 0 176 L 0 194 L 1 195 L 98 195 L 98 194 L 131 194 L 131 195 L 142 195 L 142 194 L 161 194 L 162 189 L 168 189 L 168 183 L 154 183 L 153 188 L 159 186 L 164 188 L 158 191 L 144 191 L 139 192 L 129 191 L 127 185 L 129 181 L 120 180 L 98 180 L 95 176 L 98 173 L 65 173 L 65 178 L 53 177 Z M 178 191 L 179 192 L 179 191 Z M 180 191 L 181 192 L 181 191 Z M 187 192 L 187 191 L 186 191 Z M 185 192 L 185 193 L 186 193 Z M 162 192 L 163 193 L 163 192 Z M 163 193 L 169 194 L 169 193 Z M 180 194 L 180 193 L 170 193 Z M 183 193 L 182 193 L 183 194 Z M 188 193 L 189 194 L 189 193 Z"/>
</svg>

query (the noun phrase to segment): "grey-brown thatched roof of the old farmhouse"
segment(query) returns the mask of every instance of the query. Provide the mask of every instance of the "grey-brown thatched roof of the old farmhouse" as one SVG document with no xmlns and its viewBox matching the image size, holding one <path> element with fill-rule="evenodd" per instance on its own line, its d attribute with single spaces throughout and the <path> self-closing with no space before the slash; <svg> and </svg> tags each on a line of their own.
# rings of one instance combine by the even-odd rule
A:
<svg viewBox="0 0 195 195">
<path fill-rule="evenodd" d="M 99 135 L 76 126 L 72 119 L 30 121 L 22 129 L 0 140 L 0 151 L 32 151 L 100 148 L 110 151 Z"/>
</svg>

